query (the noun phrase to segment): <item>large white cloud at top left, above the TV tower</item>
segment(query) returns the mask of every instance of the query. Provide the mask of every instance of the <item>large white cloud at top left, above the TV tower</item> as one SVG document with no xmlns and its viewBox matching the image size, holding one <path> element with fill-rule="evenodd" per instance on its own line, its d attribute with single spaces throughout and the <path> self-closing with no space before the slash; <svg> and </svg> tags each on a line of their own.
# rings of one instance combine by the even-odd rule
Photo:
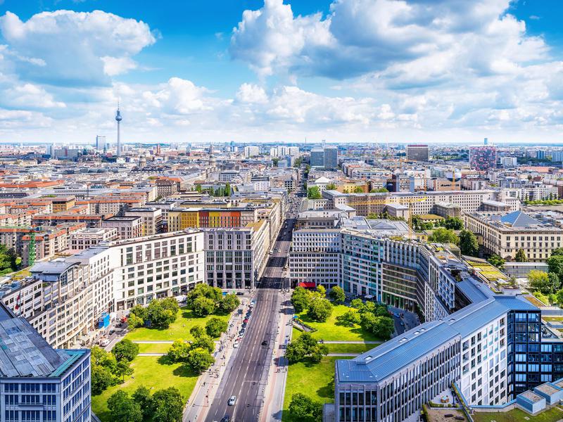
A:
<svg viewBox="0 0 563 422">
<path fill-rule="evenodd" d="M 6 12 L 0 31 L 20 79 L 61 86 L 108 85 L 156 41 L 146 23 L 103 11 L 43 12 L 25 22 Z"/>
</svg>

